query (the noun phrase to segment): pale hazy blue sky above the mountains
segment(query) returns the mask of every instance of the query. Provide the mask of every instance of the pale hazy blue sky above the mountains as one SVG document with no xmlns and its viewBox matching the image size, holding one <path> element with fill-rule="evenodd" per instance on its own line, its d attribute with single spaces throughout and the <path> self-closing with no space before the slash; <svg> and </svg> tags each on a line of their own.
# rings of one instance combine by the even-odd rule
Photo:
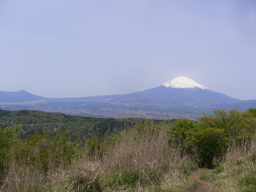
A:
<svg viewBox="0 0 256 192">
<path fill-rule="evenodd" d="M 255 0 L 1 0 L 0 91 L 129 94 L 187 76 L 256 99 Z"/>
</svg>

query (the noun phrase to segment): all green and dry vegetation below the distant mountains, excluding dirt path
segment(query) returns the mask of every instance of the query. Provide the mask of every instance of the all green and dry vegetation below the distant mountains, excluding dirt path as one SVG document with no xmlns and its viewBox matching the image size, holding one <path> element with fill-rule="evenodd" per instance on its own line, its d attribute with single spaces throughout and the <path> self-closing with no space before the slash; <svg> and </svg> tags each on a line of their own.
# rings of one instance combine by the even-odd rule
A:
<svg viewBox="0 0 256 192">
<path fill-rule="evenodd" d="M 0 110 L 0 191 L 256 191 L 256 108 L 155 120 Z"/>
</svg>

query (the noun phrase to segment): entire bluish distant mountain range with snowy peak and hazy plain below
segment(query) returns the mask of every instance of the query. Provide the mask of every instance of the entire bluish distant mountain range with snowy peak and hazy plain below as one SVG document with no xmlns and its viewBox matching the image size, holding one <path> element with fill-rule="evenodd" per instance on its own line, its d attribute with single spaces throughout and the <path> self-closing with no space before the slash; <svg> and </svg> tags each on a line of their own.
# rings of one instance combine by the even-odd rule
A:
<svg viewBox="0 0 256 192">
<path fill-rule="evenodd" d="M 26 91 L 0 91 L 0 108 L 34 109 L 105 118 L 196 118 L 214 108 L 255 108 L 256 100 L 242 101 L 217 93 L 184 76 L 133 94 L 44 98 Z"/>
</svg>

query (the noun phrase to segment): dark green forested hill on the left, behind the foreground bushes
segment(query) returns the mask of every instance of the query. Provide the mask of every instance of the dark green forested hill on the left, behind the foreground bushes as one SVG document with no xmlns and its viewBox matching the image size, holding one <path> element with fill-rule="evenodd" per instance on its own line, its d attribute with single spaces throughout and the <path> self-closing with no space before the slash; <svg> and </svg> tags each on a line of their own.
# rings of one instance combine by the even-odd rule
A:
<svg viewBox="0 0 256 192">
<path fill-rule="evenodd" d="M 113 131 L 121 131 L 134 127 L 137 124 L 154 123 L 168 125 L 174 120 L 153 120 L 144 118 L 94 118 L 73 116 L 63 113 L 49 113 L 44 111 L 5 111 L 0 109 L 0 128 L 13 128 L 21 125 L 21 138 L 34 133 L 44 133 L 49 130 L 51 134 L 56 131 L 68 131 L 69 141 L 79 143 L 84 138 L 92 136 L 103 137 Z"/>
</svg>

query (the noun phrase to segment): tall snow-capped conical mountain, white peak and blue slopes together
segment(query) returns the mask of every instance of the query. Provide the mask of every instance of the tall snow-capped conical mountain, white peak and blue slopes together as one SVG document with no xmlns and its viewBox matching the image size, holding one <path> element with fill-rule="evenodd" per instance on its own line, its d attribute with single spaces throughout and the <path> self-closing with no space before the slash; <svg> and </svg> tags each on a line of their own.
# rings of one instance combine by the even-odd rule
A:
<svg viewBox="0 0 256 192">
<path fill-rule="evenodd" d="M 153 89 L 133 94 L 109 96 L 108 101 L 119 104 L 137 103 L 140 106 L 215 107 L 238 103 L 242 100 L 211 91 L 192 79 L 179 76 Z"/>
</svg>

